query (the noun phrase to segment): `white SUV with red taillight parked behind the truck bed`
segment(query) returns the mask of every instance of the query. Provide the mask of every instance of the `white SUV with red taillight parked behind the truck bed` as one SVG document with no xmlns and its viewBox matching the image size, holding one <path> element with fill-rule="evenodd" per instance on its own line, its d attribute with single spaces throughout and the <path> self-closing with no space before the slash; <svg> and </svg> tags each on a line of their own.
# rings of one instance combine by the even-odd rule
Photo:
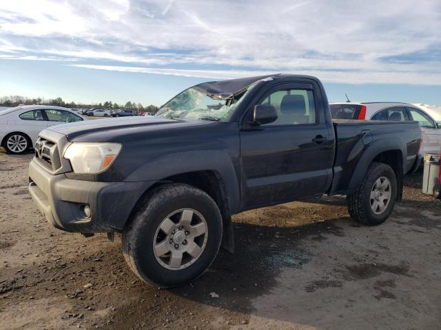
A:
<svg viewBox="0 0 441 330">
<path fill-rule="evenodd" d="M 344 102 L 331 103 L 332 119 L 356 120 L 416 120 L 421 128 L 420 154 L 440 154 L 441 129 L 424 110 L 413 104 L 400 102 Z"/>
</svg>

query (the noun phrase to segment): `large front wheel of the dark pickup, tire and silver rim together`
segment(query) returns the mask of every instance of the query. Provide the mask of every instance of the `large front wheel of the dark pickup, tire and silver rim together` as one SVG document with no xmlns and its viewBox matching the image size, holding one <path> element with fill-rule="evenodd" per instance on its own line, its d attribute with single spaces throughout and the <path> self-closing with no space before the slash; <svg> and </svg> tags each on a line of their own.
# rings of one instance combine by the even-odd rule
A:
<svg viewBox="0 0 441 330">
<path fill-rule="evenodd" d="M 214 200 L 186 184 L 165 184 L 148 193 L 123 231 L 125 261 L 146 283 L 176 287 L 200 276 L 222 240 Z"/>
</svg>

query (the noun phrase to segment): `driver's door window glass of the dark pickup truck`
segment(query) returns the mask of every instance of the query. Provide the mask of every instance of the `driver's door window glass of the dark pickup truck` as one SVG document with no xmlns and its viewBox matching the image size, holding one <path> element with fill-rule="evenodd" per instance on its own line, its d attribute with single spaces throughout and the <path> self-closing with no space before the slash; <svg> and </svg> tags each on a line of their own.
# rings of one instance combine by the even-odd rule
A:
<svg viewBox="0 0 441 330">
<path fill-rule="evenodd" d="M 310 90 L 286 89 L 274 91 L 260 104 L 271 104 L 276 108 L 278 116 L 275 122 L 263 126 L 314 124 L 316 122 L 314 94 Z"/>
</svg>

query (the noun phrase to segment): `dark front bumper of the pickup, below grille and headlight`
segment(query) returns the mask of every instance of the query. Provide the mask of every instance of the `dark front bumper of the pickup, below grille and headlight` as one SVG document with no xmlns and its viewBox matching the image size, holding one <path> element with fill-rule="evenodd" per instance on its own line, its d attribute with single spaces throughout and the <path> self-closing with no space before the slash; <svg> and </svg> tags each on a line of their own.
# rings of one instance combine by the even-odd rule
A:
<svg viewBox="0 0 441 330">
<path fill-rule="evenodd" d="M 68 232 L 123 230 L 136 202 L 155 181 L 96 182 L 52 175 L 35 159 L 29 164 L 29 192 L 55 228 Z M 90 207 L 90 217 L 84 207 Z"/>
</svg>

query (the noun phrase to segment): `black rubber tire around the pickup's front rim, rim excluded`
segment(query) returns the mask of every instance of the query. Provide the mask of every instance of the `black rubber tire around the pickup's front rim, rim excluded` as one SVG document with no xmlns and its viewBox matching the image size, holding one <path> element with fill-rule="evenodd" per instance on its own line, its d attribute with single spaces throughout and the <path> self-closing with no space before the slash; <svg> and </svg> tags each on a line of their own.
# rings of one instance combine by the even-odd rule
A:
<svg viewBox="0 0 441 330">
<path fill-rule="evenodd" d="M 170 270 L 156 260 L 153 244 L 159 225 L 169 214 L 191 208 L 207 223 L 205 248 L 188 267 Z M 142 281 L 157 287 L 176 287 L 200 276 L 214 261 L 222 240 L 222 218 L 214 200 L 187 184 L 165 184 L 147 193 L 122 236 L 125 261 Z"/>
</svg>

